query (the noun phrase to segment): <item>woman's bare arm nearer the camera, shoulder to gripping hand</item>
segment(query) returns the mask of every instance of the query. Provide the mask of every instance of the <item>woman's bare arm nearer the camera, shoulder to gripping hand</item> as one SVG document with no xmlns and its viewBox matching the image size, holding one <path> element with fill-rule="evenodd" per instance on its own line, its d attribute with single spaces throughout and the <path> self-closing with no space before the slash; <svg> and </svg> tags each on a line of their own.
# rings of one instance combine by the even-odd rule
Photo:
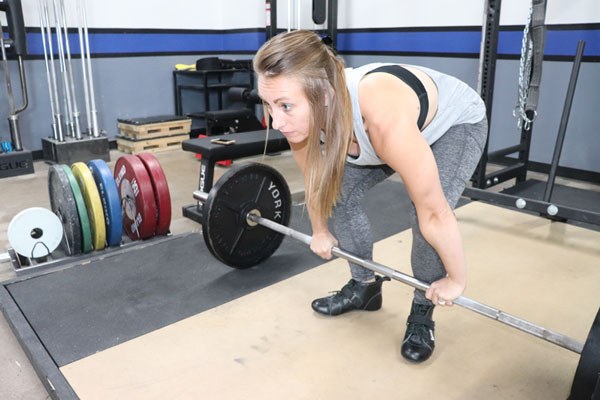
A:
<svg viewBox="0 0 600 400">
<path fill-rule="evenodd" d="M 434 282 L 426 296 L 434 303 L 438 298 L 453 300 L 467 282 L 462 238 L 431 148 L 416 124 L 418 99 L 394 77 L 372 74 L 361 83 L 360 105 L 375 151 L 402 178 L 421 233 L 446 269 L 447 277 Z"/>
</svg>

